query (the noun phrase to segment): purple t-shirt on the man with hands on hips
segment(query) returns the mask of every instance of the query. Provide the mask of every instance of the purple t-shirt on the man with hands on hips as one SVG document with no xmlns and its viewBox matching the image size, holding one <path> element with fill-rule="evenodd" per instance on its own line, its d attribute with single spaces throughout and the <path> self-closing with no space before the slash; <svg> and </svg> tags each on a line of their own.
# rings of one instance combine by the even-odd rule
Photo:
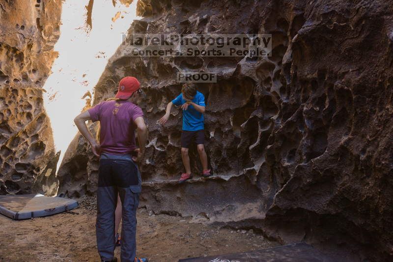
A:
<svg viewBox="0 0 393 262">
<path fill-rule="evenodd" d="M 87 110 L 93 122 L 100 120 L 100 145 L 102 152 L 110 154 L 131 153 L 135 146 L 135 119 L 143 117 L 139 106 L 124 101 L 102 101 Z"/>
</svg>

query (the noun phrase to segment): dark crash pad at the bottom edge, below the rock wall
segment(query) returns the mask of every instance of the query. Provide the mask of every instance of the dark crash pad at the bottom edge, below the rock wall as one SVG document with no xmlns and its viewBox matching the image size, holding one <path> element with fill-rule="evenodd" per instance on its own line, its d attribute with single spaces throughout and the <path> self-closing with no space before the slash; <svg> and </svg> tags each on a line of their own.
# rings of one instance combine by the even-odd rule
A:
<svg viewBox="0 0 393 262">
<path fill-rule="evenodd" d="M 258 251 L 182 259 L 179 262 L 336 262 L 306 243 L 296 243 Z"/>
</svg>

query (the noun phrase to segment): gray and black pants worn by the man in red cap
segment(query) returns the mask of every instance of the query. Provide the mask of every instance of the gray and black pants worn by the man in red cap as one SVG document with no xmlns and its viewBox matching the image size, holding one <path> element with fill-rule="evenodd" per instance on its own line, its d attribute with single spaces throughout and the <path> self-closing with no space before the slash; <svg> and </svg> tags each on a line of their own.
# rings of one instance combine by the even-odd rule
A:
<svg viewBox="0 0 393 262">
<path fill-rule="evenodd" d="M 115 248 L 114 210 L 117 194 L 122 204 L 121 261 L 134 262 L 136 257 L 136 211 L 141 183 L 138 166 L 130 155 L 104 154 L 100 157 L 97 189 L 96 236 L 102 260 L 111 261 Z"/>
</svg>

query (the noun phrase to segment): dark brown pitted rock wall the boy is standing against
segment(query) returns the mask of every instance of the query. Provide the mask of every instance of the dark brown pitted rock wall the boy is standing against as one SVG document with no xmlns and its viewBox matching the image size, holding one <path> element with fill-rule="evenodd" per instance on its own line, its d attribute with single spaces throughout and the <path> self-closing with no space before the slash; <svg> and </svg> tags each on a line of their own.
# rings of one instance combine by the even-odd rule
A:
<svg viewBox="0 0 393 262">
<path fill-rule="evenodd" d="M 393 1 L 139 0 L 129 33 L 271 33 L 269 58 L 129 57 L 121 47 L 94 104 L 137 77 L 149 128 L 141 204 L 155 213 L 253 228 L 282 243 L 351 248 L 392 258 Z M 205 134 L 215 176 L 178 185 L 181 112 L 157 123 L 179 92 L 176 72 L 203 70 Z M 94 130 L 94 127 L 90 127 Z M 97 158 L 80 134 L 59 192 L 96 190 Z M 333 244 L 332 244 L 333 243 Z M 357 253 L 356 251 L 355 253 Z M 362 255 L 363 256 L 363 255 Z M 348 260 L 347 260 L 348 261 Z"/>
</svg>

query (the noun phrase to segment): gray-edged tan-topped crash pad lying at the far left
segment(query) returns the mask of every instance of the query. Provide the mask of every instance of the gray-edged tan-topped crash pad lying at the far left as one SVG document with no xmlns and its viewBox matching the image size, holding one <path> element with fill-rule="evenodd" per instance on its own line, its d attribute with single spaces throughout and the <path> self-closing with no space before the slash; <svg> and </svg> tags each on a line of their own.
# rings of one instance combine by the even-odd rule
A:
<svg viewBox="0 0 393 262">
<path fill-rule="evenodd" d="M 77 206 L 75 200 L 41 194 L 0 196 L 0 213 L 14 220 L 49 216 Z"/>
</svg>

